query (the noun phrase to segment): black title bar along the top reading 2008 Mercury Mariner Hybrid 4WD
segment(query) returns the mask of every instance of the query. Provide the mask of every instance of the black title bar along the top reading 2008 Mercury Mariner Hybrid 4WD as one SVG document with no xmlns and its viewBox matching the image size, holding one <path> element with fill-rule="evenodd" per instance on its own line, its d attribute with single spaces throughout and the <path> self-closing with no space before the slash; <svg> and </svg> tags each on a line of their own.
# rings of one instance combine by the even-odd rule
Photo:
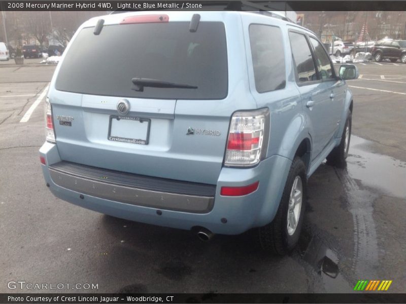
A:
<svg viewBox="0 0 406 304">
<path fill-rule="evenodd" d="M 234 3 L 231 4 L 230 3 Z M 4 1 L 4 11 L 233 10 L 239 1 Z M 270 11 L 406 11 L 406 1 L 252 1 Z M 237 5 L 237 6 L 236 6 Z M 244 7 L 247 10 L 247 7 Z M 248 10 L 250 10 L 248 8 Z M 256 9 L 252 9 L 256 11 Z"/>
</svg>

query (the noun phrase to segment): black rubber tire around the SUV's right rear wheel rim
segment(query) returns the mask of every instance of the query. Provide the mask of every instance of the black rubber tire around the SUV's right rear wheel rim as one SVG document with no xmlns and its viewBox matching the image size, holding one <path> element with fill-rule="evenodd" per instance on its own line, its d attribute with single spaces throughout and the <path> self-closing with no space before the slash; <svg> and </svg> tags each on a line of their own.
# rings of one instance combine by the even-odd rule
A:
<svg viewBox="0 0 406 304">
<path fill-rule="evenodd" d="M 288 233 L 288 208 L 293 182 L 299 176 L 302 183 L 302 199 L 299 219 L 292 235 Z M 304 210 L 306 209 L 307 177 L 306 166 L 299 157 L 293 159 L 288 178 L 283 190 L 281 202 L 275 218 L 269 224 L 258 228 L 258 239 L 261 248 L 276 255 L 285 255 L 291 251 L 299 241 L 303 226 Z"/>
</svg>

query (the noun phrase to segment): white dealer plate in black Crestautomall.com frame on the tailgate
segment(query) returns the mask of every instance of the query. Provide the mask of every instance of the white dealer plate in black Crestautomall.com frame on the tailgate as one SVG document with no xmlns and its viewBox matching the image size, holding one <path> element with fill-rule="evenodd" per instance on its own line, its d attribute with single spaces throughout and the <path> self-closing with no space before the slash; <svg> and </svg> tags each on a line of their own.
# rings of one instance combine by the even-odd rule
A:
<svg viewBox="0 0 406 304">
<path fill-rule="evenodd" d="M 110 116 L 107 139 L 119 142 L 148 144 L 151 120 L 132 116 Z"/>
</svg>

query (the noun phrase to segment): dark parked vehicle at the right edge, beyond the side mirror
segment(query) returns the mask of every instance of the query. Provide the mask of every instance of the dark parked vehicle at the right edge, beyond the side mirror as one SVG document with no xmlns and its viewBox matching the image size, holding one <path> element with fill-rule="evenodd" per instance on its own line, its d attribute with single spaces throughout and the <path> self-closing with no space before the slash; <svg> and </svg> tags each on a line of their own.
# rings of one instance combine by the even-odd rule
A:
<svg viewBox="0 0 406 304">
<path fill-rule="evenodd" d="M 406 63 L 406 40 L 380 40 L 371 49 L 371 53 L 375 61 L 388 58 L 392 62 L 400 59 L 402 63 Z"/>
</svg>

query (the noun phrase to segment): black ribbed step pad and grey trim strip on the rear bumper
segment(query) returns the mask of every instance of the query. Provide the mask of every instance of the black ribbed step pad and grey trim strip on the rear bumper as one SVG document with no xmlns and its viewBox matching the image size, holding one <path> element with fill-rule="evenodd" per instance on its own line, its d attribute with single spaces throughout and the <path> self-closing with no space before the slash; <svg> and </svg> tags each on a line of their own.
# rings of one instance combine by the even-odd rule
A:
<svg viewBox="0 0 406 304">
<path fill-rule="evenodd" d="M 48 167 L 56 185 L 72 191 L 136 206 L 190 213 L 213 209 L 215 185 L 181 182 L 59 162 Z"/>
</svg>

